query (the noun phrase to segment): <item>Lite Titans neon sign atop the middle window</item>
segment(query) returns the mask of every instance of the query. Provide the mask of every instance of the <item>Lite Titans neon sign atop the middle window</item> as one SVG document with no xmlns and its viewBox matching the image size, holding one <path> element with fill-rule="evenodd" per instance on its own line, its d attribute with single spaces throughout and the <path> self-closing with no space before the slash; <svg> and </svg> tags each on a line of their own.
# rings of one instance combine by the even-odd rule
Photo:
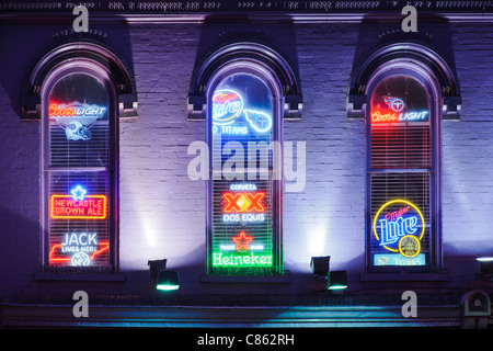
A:
<svg viewBox="0 0 493 351">
<path fill-rule="evenodd" d="M 213 97 L 213 132 L 245 135 L 250 129 L 266 133 L 272 117 L 265 112 L 243 109 L 243 98 L 233 90 L 217 90 Z"/>
</svg>

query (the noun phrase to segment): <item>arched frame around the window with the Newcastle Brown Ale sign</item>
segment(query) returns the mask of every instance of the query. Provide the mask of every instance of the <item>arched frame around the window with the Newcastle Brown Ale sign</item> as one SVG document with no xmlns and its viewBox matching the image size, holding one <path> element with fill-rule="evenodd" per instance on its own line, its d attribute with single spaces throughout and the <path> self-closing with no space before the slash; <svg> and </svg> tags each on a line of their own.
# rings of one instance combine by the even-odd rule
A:
<svg viewBox="0 0 493 351">
<path fill-rule="evenodd" d="M 89 75 L 100 80 L 107 93 L 108 99 L 108 166 L 107 167 L 50 167 L 49 166 L 49 94 L 58 81 L 73 73 Z M 49 264 L 49 173 L 56 171 L 73 172 L 105 171 L 108 177 L 108 225 L 110 225 L 110 273 L 115 273 L 118 268 L 118 94 L 108 71 L 100 64 L 88 59 L 67 59 L 54 68 L 43 80 L 41 87 L 41 265 L 44 272 L 105 272 L 102 267 L 51 267 Z"/>
</svg>

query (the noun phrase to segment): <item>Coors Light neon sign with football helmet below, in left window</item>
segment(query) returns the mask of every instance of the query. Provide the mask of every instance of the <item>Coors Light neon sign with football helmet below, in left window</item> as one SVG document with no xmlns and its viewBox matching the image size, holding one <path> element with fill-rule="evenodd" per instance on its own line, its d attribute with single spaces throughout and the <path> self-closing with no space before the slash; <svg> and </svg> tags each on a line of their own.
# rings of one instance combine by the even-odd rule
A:
<svg viewBox="0 0 493 351">
<path fill-rule="evenodd" d="M 49 118 L 65 131 L 67 140 L 90 140 L 92 135 L 89 129 L 105 113 L 106 107 L 79 102 L 50 102 L 48 107 Z"/>
</svg>

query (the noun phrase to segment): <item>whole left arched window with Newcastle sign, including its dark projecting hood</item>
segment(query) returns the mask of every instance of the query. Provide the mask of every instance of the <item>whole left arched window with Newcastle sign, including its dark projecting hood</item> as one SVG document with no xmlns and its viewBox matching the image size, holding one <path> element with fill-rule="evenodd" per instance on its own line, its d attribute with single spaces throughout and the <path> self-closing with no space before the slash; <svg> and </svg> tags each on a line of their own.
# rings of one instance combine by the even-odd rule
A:
<svg viewBox="0 0 493 351">
<path fill-rule="evenodd" d="M 122 61 L 93 43 L 70 43 L 34 69 L 23 117 L 41 120 L 44 271 L 115 272 L 118 117 L 136 116 Z"/>
</svg>

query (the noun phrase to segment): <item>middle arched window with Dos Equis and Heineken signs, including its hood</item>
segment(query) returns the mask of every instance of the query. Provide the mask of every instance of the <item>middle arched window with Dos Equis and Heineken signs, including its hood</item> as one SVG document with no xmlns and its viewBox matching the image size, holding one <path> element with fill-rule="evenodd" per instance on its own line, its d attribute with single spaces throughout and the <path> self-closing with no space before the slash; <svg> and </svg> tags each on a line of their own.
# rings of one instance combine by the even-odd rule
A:
<svg viewBox="0 0 493 351">
<path fill-rule="evenodd" d="M 193 83 L 188 117 L 206 111 L 209 146 L 207 273 L 280 275 L 283 117 L 301 107 L 293 71 L 270 48 L 239 43 Z"/>
</svg>

